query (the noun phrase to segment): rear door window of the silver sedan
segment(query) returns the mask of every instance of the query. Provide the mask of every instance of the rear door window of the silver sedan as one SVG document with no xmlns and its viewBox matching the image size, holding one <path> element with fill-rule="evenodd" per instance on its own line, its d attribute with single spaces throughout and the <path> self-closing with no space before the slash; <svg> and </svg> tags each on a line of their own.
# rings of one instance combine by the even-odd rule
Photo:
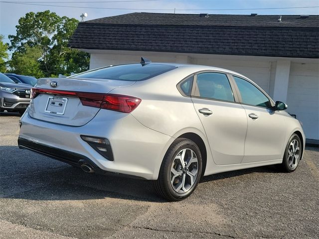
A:
<svg viewBox="0 0 319 239">
<path fill-rule="evenodd" d="M 235 102 L 227 76 L 217 72 L 205 72 L 197 75 L 195 96 Z"/>
</svg>

